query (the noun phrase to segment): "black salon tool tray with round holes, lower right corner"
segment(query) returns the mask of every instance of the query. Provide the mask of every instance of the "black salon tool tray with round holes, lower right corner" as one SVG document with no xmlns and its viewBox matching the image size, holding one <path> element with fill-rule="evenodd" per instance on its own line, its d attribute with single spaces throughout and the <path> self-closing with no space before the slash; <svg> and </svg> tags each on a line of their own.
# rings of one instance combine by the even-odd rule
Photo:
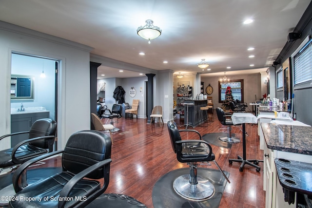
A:
<svg viewBox="0 0 312 208">
<path fill-rule="evenodd" d="M 285 189 L 311 195 L 312 167 L 310 163 L 283 158 L 274 159 L 278 180 Z"/>
</svg>

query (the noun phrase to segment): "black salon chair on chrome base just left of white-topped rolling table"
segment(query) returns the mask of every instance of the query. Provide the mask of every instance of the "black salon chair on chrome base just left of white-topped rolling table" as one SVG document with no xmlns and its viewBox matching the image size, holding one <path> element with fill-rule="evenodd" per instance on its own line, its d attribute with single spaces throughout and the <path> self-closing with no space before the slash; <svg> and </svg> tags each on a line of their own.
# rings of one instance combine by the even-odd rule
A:
<svg viewBox="0 0 312 208">
<path fill-rule="evenodd" d="M 227 136 L 219 136 L 219 139 L 223 142 L 230 142 L 230 143 L 239 143 L 240 139 L 236 137 L 232 137 L 232 127 L 233 121 L 231 119 L 232 114 L 224 112 L 221 108 L 216 108 L 216 114 L 218 116 L 218 120 L 224 126 L 228 126 L 227 129 Z M 224 129 L 224 128 L 221 128 Z M 221 130 L 219 129 L 219 131 Z"/>
</svg>

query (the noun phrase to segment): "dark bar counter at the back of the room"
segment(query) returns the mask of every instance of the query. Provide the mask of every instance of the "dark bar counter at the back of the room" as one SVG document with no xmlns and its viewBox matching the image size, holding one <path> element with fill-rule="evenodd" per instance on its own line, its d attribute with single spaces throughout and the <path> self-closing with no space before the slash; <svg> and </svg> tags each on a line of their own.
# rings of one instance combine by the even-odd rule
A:
<svg viewBox="0 0 312 208">
<path fill-rule="evenodd" d="M 185 100 L 184 103 L 192 103 L 194 105 L 189 105 L 189 113 L 186 114 L 188 119 L 184 116 L 184 125 L 189 124 L 192 126 L 198 126 L 202 122 L 204 122 L 204 117 L 199 116 L 201 112 L 200 107 L 207 106 L 207 99 L 203 100 Z M 187 105 L 184 105 L 184 112 L 187 112 Z M 188 120 L 188 123 L 187 123 Z"/>
</svg>

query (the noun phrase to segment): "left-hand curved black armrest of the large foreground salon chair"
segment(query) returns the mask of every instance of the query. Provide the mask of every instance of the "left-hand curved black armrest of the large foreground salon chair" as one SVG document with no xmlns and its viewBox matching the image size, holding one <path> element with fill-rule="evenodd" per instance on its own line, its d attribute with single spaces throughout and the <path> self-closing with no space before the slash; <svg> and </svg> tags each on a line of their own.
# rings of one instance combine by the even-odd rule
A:
<svg viewBox="0 0 312 208">
<path fill-rule="evenodd" d="M 55 154 L 59 154 L 62 152 L 63 152 L 63 150 L 52 151 L 52 152 L 49 152 L 46 154 L 42 154 L 42 155 L 35 157 L 33 159 L 30 159 L 30 160 L 24 162 L 23 164 L 21 164 L 20 167 L 13 173 L 13 176 L 12 176 L 12 183 L 13 183 L 13 187 L 14 187 L 15 192 L 17 193 L 22 189 L 21 187 L 19 187 L 19 178 L 20 178 L 20 175 L 23 173 L 24 170 L 26 170 L 29 166 L 31 166 L 32 164 L 34 164 L 40 160 L 43 160 L 45 158 L 51 157 Z"/>
</svg>

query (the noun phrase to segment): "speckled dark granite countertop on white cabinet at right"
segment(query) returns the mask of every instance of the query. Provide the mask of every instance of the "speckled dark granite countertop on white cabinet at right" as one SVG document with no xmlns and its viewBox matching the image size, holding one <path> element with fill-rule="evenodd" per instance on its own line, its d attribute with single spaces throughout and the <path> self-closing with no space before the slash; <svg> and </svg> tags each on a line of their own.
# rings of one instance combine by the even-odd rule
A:
<svg viewBox="0 0 312 208">
<path fill-rule="evenodd" d="M 312 127 L 261 123 L 267 147 L 312 155 Z"/>
</svg>

